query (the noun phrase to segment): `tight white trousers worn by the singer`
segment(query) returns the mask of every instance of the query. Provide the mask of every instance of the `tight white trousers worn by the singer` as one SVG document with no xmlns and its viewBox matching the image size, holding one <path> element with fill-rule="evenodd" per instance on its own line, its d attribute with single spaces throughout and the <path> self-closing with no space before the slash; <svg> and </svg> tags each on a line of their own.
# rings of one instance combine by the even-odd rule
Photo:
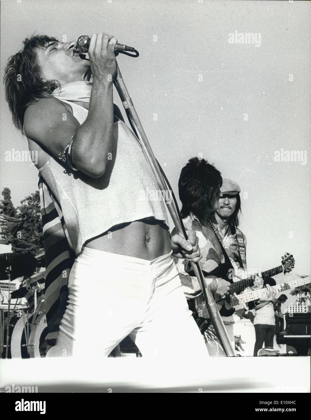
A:
<svg viewBox="0 0 311 420">
<path fill-rule="evenodd" d="M 148 261 L 84 247 L 68 289 L 56 345 L 47 357 L 107 357 L 128 335 L 143 357 L 209 357 L 172 251 Z"/>
</svg>

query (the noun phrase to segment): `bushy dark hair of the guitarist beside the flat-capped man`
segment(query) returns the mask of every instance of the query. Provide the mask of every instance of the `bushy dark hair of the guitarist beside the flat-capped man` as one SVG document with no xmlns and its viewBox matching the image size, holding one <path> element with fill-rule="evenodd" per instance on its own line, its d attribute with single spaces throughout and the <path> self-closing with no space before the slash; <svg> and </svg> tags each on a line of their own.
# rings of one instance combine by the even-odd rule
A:
<svg viewBox="0 0 311 420">
<path fill-rule="evenodd" d="M 206 223 L 221 186 L 221 173 L 214 165 L 198 157 L 189 159 L 181 170 L 178 181 L 179 198 L 182 202 L 181 216 L 186 218 L 193 213 Z"/>
</svg>

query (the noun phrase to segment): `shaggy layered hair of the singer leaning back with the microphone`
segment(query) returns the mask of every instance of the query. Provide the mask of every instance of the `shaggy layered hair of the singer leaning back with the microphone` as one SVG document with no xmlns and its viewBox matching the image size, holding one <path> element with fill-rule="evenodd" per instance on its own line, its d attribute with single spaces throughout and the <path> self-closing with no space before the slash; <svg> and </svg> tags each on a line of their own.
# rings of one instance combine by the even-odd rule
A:
<svg viewBox="0 0 311 420">
<path fill-rule="evenodd" d="M 12 113 L 13 123 L 23 132 L 24 113 L 31 102 L 50 97 L 60 83 L 56 80 L 44 81 L 37 61 L 39 48 L 45 48 L 50 42 L 58 42 L 47 35 L 32 35 L 24 40 L 24 48 L 12 55 L 5 67 L 3 77 L 5 98 Z"/>
</svg>

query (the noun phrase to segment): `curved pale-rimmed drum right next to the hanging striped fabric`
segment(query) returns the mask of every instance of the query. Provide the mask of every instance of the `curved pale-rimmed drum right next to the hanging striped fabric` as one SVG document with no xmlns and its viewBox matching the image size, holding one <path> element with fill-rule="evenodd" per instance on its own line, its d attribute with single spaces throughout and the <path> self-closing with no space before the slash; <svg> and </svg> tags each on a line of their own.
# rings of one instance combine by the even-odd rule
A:
<svg viewBox="0 0 311 420">
<path fill-rule="evenodd" d="M 31 333 L 29 337 L 29 353 L 30 357 L 45 357 L 47 353 L 47 318 L 45 313 L 37 316 L 34 323 L 31 325 Z"/>
</svg>

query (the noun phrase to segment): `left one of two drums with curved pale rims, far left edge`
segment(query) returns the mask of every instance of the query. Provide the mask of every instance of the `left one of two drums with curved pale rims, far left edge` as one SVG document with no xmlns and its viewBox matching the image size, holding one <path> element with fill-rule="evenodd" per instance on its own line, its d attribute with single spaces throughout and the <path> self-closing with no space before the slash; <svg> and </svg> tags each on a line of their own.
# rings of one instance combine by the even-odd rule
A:
<svg viewBox="0 0 311 420">
<path fill-rule="evenodd" d="M 24 312 L 24 311 L 23 311 Z M 6 343 L 7 336 L 7 316 L 5 314 L 4 324 L 4 343 L 8 344 L 8 359 L 19 357 L 21 359 L 29 359 L 29 354 L 26 347 L 26 334 L 24 325 L 27 326 L 27 313 L 18 312 L 13 316 L 11 314 L 9 323 L 9 341 Z M 32 315 L 29 316 L 29 324 L 31 323 Z M 25 324 L 24 324 L 25 323 Z M 3 348 L 2 357 L 5 358 L 6 347 Z"/>
</svg>

